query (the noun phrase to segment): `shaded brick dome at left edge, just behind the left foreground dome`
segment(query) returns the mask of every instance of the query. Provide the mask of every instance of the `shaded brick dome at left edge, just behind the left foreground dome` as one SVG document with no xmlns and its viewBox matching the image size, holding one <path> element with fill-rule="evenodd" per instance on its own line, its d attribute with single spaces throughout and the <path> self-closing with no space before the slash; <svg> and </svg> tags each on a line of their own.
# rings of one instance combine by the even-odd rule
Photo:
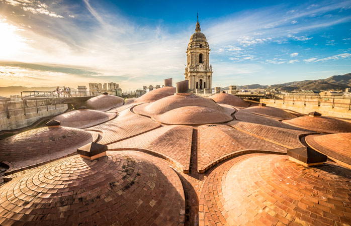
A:
<svg viewBox="0 0 351 226">
<path fill-rule="evenodd" d="M 75 128 L 43 127 L 1 140 L 0 161 L 12 164 L 7 173 L 16 172 L 71 155 L 97 139 L 98 134 Z"/>
</svg>

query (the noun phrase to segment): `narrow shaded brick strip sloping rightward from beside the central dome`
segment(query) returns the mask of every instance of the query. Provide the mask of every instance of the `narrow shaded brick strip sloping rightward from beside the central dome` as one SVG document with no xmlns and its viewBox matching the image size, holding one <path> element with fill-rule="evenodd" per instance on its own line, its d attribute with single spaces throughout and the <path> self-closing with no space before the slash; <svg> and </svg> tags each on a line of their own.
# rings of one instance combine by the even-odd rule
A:
<svg viewBox="0 0 351 226">
<path fill-rule="evenodd" d="M 286 128 L 286 129 L 292 129 L 292 130 L 301 130 L 301 128 L 299 127 L 294 127 L 292 125 L 279 122 L 278 119 L 251 114 L 247 111 L 244 111 L 243 109 L 238 109 L 238 111 L 235 113 L 234 116 L 237 120 L 248 122 L 248 123 L 274 126 L 274 127 L 280 127 L 280 128 Z"/>
</svg>

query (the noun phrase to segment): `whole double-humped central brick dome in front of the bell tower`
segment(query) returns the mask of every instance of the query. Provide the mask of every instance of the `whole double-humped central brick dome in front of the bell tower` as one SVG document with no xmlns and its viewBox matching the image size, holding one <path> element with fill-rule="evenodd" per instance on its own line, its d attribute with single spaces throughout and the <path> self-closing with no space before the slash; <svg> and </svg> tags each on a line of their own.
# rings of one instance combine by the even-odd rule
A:
<svg viewBox="0 0 351 226">
<path fill-rule="evenodd" d="M 137 105 L 133 111 L 165 124 L 194 125 L 232 120 L 230 114 L 213 100 L 194 94 L 167 96 L 153 103 Z"/>
</svg>

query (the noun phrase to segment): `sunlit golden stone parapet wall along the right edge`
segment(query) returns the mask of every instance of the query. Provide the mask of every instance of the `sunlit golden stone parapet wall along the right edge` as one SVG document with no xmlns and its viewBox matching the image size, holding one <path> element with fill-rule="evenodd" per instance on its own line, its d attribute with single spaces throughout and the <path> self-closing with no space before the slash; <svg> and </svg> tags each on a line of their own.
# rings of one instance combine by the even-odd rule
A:
<svg viewBox="0 0 351 226">
<path fill-rule="evenodd" d="M 294 110 L 301 114 L 317 111 L 322 116 L 351 119 L 350 98 L 287 96 L 284 99 L 261 99 L 260 102 L 268 106 Z"/>
</svg>

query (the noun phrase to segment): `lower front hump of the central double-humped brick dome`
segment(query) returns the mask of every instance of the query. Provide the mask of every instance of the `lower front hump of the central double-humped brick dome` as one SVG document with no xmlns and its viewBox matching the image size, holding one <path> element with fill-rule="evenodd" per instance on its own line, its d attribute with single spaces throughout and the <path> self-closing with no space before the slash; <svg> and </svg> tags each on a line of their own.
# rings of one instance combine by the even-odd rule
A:
<svg viewBox="0 0 351 226">
<path fill-rule="evenodd" d="M 233 109 L 234 110 L 234 109 Z M 153 116 L 157 122 L 174 125 L 199 125 L 224 123 L 232 120 L 230 115 L 218 110 L 201 106 L 184 106 Z"/>
</svg>

